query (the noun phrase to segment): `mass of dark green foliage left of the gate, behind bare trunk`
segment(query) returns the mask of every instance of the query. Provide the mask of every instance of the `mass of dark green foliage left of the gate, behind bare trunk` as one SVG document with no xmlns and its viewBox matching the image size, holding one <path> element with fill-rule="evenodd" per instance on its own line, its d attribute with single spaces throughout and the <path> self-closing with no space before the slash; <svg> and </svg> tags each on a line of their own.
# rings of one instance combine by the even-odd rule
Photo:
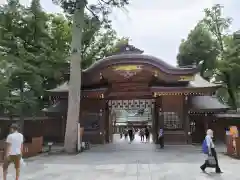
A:
<svg viewBox="0 0 240 180">
<path fill-rule="evenodd" d="M 118 42 L 116 32 L 85 15 L 82 56 L 84 68 L 105 57 Z M 0 113 L 36 115 L 45 104 L 46 89 L 64 78 L 70 55 L 72 19 L 48 14 L 33 0 L 0 6 Z"/>
</svg>

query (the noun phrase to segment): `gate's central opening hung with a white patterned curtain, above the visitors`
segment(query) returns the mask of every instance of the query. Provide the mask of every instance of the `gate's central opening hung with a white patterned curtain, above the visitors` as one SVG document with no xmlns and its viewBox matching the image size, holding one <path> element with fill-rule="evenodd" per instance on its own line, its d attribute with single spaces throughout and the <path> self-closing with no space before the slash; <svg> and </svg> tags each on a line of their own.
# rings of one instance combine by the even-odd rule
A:
<svg viewBox="0 0 240 180">
<path fill-rule="evenodd" d="M 119 141 L 120 135 L 129 128 L 134 129 L 136 141 L 139 140 L 139 131 L 142 128 L 147 127 L 154 134 L 154 102 L 154 99 L 109 100 L 107 105 L 110 123 L 106 124 L 111 124 L 109 129 L 112 129 L 112 142 Z"/>
</svg>

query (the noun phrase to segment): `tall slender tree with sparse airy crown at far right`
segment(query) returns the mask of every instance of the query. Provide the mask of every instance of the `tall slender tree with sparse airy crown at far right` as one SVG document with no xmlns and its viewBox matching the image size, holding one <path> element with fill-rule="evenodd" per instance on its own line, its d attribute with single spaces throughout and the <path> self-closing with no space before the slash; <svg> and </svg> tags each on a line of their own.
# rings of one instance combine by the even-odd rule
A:
<svg viewBox="0 0 240 180">
<path fill-rule="evenodd" d="M 228 53 L 226 52 L 228 46 L 224 42 L 232 19 L 223 17 L 222 12 L 223 6 L 220 4 L 216 4 L 210 9 L 205 9 L 205 17 L 203 19 L 203 23 L 219 45 L 220 54 L 218 57 L 218 68 L 216 71 L 216 76 L 218 76 L 217 79 L 221 79 L 221 81 L 226 85 L 230 98 L 229 103 L 234 109 L 236 109 L 236 85 L 234 83 L 234 74 L 230 68 L 231 65 L 229 57 L 227 55 Z"/>
</svg>

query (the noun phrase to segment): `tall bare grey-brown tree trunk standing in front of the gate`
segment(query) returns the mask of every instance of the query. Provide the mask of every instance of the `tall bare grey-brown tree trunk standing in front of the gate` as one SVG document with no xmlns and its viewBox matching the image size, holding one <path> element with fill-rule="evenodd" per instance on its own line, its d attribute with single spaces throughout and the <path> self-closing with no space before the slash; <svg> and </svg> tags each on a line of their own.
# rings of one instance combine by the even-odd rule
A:
<svg viewBox="0 0 240 180">
<path fill-rule="evenodd" d="M 84 8 L 85 4 L 83 4 L 83 1 L 78 1 L 73 14 L 68 112 L 64 140 L 64 150 L 67 153 L 77 151 L 77 124 L 79 122 L 81 99 L 81 48 Z"/>
</svg>

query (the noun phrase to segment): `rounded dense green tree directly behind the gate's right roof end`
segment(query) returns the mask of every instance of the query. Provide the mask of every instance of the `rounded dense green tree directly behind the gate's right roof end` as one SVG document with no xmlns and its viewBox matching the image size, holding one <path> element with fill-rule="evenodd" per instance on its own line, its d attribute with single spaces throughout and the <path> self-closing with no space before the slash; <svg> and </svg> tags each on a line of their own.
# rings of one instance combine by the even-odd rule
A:
<svg viewBox="0 0 240 180">
<path fill-rule="evenodd" d="M 189 33 L 187 39 L 181 42 L 177 63 L 179 66 L 198 65 L 201 63 L 200 75 L 209 79 L 215 69 L 218 54 L 216 41 L 200 22 Z"/>
</svg>

